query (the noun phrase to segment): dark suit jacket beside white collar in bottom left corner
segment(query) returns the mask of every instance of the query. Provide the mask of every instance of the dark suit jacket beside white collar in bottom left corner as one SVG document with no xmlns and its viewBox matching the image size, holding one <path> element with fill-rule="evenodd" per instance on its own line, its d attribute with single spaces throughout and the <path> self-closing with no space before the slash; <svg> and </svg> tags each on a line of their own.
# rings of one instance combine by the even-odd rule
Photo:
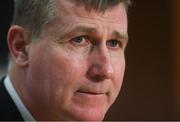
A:
<svg viewBox="0 0 180 122">
<path fill-rule="evenodd" d="M 4 79 L 0 81 L 0 121 L 23 121 L 20 112 L 4 86 Z"/>
</svg>

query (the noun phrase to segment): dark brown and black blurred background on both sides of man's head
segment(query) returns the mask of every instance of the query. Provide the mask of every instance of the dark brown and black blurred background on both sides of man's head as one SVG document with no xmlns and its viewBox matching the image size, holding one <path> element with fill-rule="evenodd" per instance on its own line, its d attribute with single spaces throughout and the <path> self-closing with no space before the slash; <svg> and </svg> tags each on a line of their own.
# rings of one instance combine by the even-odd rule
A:
<svg viewBox="0 0 180 122">
<path fill-rule="evenodd" d="M 180 0 L 132 0 L 121 93 L 106 120 L 180 120 Z M 0 77 L 12 0 L 0 1 Z"/>
</svg>

